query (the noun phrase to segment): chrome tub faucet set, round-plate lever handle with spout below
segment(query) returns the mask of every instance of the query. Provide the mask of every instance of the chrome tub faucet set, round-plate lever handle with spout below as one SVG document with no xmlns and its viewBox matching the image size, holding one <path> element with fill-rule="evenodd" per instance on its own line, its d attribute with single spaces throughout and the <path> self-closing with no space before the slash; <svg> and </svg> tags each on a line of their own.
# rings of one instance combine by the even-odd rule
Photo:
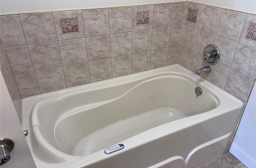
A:
<svg viewBox="0 0 256 168">
<path fill-rule="evenodd" d="M 200 75 L 201 73 L 210 73 L 211 67 L 205 66 L 206 63 L 208 64 L 217 64 L 217 62 L 220 60 L 220 50 L 217 46 L 214 44 L 209 44 L 204 48 L 204 60 L 202 64 L 202 68 L 198 69 L 196 71 L 197 75 Z"/>
</svg>

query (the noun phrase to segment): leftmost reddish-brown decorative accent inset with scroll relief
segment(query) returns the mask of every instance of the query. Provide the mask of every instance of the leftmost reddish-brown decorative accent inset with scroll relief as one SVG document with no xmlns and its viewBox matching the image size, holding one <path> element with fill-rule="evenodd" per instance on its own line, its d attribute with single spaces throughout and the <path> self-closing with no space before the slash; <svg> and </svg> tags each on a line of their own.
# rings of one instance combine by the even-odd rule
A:
<svg viewBox="0 0 256 168">
<path fill-rule="evenodd" d="M 77 17 L 61 17 L 62 34 L 78 33 Z"/>
</svg>

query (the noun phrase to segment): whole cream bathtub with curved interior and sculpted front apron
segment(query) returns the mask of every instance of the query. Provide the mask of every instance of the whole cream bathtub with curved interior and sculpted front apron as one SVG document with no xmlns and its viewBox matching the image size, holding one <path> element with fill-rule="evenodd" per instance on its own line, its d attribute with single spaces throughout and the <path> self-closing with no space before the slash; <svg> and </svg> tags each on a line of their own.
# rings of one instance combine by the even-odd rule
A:
<svg viewBox="0 0 256 168">
<path fill-rule="evenodd" d="M 226 151 L 243 108 L 179 64 L 24 98 L 22 105 L 37 168 L 193 168 Z M 105 154 L 118 144 L 124 148 Z"/>
</svg>

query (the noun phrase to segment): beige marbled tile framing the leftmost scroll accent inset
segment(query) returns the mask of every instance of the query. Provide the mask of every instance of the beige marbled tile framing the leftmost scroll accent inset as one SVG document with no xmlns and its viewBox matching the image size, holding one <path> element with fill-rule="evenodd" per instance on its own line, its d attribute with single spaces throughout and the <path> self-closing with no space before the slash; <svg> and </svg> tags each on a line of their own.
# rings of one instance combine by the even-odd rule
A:
<svg viewBox="0 0 256 168">
<path fill-rule="evenodd" d="M 62 33 L 62 25 L 61 25 L 61 21 L 60 21 L 60 18 L 62 18 L 62 17 L 76 17 L 76 24 L 78 27 L 78 32 L 63 34 Z M 58 40 L 69 40 L 69 39 L 84 37 L 82 10 L 53 12 L 53 18 L 55 21 L 55 27 L 56 27 Z"/>
</svg>

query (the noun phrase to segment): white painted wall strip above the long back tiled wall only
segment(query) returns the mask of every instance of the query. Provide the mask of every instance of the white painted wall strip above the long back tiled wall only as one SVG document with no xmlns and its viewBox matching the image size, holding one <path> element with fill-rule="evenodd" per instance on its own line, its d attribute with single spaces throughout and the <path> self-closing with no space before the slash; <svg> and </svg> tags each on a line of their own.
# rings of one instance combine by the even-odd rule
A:
<svg viewBox="0 0 256 168">
<path fill-rule="evenodd" d="M 176 1 L 179 0 L 1 0 L 0 14 L 93 9 Z"/>
</svg>

